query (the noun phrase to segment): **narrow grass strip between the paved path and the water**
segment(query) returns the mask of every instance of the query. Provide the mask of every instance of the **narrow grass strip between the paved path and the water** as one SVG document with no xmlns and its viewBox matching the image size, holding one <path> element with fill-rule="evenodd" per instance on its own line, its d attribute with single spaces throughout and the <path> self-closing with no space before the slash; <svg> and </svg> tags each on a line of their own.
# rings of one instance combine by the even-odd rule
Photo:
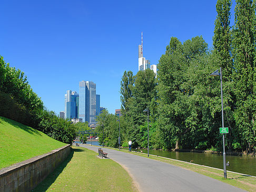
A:
<svg viewBox="0 0 256 192">
<path fill-rule="evenodd" d="M 115 148 L 111 148 L 115 149 Z M 119 149 L 115 149 L 119 150 Z M 125 153 L 129 153 L 127 150 L 122 150 Z M 170 158 L 164 158 L 164 157 L 157 157 L 150 155 L 150 157 L 147 157 L 147 154 L 144 153 L 132 153 L 133 155 L 139 155 L 142 157 L 159 160 L 164 163 L 168 163 L 174 166 L 182 167 L 191 171 L 195 171 L 196 173 L 211 177 L 213 179 L 220 180 L 224 183 L 227 183 L 229 185 L 233 185 L 235 187 L 247 190 L 247 191 L 256 191 L 256 177 L 252 177 L 245 174 L 237 174 L 232 173 L 230 171 L 227 171 L 227 179 L 224 179 L 223 177 L 223 170 L 215 169 L 211 167 L 206 167 L 202 165 L 192 164 L 185 161 L 179 161 L 176 159 L 170 159 Z M 254 168 L 254 167 L 252 167 Z"/>
</svg>

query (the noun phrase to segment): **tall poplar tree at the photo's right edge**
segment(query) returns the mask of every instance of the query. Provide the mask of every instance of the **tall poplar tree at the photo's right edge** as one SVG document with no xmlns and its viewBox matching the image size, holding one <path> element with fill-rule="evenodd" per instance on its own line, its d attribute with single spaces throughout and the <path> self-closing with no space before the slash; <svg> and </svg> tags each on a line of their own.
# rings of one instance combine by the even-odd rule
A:
<svg viewBox="0 0 256 192">
<path fill-rule="evenodd" d="M 237 0 L 233 30 L 235 121 L 243 144 L 255 145 L 255 3 Z"/>
</svg>

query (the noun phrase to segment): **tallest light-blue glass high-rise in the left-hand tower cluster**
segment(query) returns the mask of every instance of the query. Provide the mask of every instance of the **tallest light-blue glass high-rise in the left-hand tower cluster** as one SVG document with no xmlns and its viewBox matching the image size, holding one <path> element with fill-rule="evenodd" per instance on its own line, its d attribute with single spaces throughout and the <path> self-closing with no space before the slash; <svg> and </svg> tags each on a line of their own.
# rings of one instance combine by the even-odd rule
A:
<svg viewBox="0 0 256 192">
<path fill-rule="evenodd" d="M 95 123 L 96 84 L 82 80 L 79 82 L 79 118 L 83 122 Z"/>
</svg>

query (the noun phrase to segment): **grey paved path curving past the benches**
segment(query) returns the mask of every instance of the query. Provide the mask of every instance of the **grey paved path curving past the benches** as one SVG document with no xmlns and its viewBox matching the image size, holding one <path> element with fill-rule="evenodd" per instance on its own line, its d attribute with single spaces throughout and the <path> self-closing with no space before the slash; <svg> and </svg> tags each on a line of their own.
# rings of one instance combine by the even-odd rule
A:
<svg viewBox="0 0 256 192">
<path fill-rule="evenodd" d="M 80 145 L 98 152 L 99 147 Z M 107 156 L 126 168 L 140 191 L 244 191 L 184 168 L 161 161 L 102 148 Z M 106 159 L 107 160 L 107 159 Z"/>
</svg>

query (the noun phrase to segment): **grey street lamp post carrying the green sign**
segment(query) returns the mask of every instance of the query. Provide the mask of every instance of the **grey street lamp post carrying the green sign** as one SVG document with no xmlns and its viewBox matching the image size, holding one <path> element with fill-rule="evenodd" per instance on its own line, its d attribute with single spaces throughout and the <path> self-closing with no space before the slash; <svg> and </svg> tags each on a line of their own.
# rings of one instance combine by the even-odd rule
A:
<svg viewBox="0 0 256 192">
<path fill-rule="evenodd" d="M 222 72 L 220 67 L 219 69 L 215 70 L 210 76 L 220 76 L 221 80 L 221 114 L 222 114 L 222 127 L 224 127 L 224 115 L 223 115 L 223 93 L 222 93 Z M 226 167 L 226 153 L 225 153 L 225 135 L 222 134 L 223 139 L 223 170 L 224 170 L 224 178 L 227 179 L 227 167 Z"/>
</svg>

